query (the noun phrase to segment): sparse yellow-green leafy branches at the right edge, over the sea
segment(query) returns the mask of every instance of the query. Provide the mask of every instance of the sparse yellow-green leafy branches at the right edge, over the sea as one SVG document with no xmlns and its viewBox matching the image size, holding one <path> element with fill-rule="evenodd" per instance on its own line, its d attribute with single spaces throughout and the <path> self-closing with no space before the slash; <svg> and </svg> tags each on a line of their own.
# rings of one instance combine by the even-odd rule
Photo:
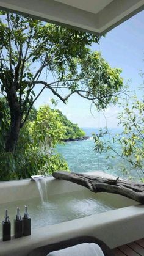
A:
<svg viewBox="0 0 144 256">
<path fill-rule="evenodd" d="M 143 90 L 143 89 L 141 89 Z M 124 174 L 134 175 L 134 172 L 143 181 L 144 177 L 144 97 L 133 97 L 126 99 L 123 103 L 124 110 L 118 115 L 118 125 L 123 127 L 120 134 L 109 139 L 104 139 L 108 130 L 94 136 L 96 153 L 107 152 L 107 158 L 116 157 L 121 163 Z M 115 145 L 118 145 L 115 148 Z M 113 152 L 110 155 L 110 152 Z M 131 177 L 132 178 L 132 177 Z"/>
</svg>

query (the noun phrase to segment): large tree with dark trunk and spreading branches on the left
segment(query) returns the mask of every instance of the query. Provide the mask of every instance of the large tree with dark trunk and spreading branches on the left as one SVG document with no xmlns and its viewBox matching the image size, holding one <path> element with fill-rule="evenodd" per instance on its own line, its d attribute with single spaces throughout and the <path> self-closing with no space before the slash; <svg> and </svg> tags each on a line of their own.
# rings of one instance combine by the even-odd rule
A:
<svg viewBox="0 0 144 256">
<path fill-rule="evenodd" d="M 6 98 L 10 112 L 9 120 L 4 122 L 7 109 L 1 106 L 4 152 L 15 153 L 20 130 L 45 89 L 63 103 L 73 93 L 101 108 L 117 100 L 117 92 L 123 86 L 121 70 L 111 68 L 100 54 L 92 53 L 92 43 L 99 43 L 99 37 L 1 12 L 0 93 Z M 99 72 L 103 84 L 100 98 Z"/>
</svg>

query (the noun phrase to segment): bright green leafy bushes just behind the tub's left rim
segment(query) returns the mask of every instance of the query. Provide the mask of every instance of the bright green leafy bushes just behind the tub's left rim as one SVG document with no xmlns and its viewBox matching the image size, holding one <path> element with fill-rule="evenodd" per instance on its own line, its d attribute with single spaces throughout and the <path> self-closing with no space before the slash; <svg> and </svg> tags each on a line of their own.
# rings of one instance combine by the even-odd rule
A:
<svg viewBox="0 0 144 256">
<path fill-rule="evenodd" d="M 21 128 L 15 153 L 1 150 L 0 180 L 68 170 L 62 156 L 54 152 L 56 144 L 61 143 L 65 136 L 65 128 L 57 115 L 49 106 L 42 106 L 37 112 L 37 118 L 27 121 Z"/>
</svg>

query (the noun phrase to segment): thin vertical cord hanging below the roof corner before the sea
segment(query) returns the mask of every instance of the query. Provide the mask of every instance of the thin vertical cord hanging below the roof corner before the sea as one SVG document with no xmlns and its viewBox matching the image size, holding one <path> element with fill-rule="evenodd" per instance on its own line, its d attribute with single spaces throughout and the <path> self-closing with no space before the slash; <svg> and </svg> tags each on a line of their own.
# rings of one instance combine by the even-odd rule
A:
<svg viewBox="0 0 144 256">
<path fill-rule="evenodd" d="M 99 71 L 98 71 L 98 138 L 100 136 L 100 86 L 101 86 L 101 51 L 99 42 Z M 100 152 L 98 151 L 98 170 L 100 170 Z"/>
</svg>

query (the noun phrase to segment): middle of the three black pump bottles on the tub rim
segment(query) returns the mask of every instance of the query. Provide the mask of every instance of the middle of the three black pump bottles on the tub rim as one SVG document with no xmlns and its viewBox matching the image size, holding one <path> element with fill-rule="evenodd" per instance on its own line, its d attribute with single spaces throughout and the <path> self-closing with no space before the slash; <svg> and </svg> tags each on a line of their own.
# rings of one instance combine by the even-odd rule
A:
<svg viewBox="0 0 144 256">
<path fill-rule="evenodd" d="M 17 207 L 16 218 L 14 219 L 14 236 L 19 238 L 23 236 L 23 220 L 20 215 L 20 208 Z"/>
</svg>

